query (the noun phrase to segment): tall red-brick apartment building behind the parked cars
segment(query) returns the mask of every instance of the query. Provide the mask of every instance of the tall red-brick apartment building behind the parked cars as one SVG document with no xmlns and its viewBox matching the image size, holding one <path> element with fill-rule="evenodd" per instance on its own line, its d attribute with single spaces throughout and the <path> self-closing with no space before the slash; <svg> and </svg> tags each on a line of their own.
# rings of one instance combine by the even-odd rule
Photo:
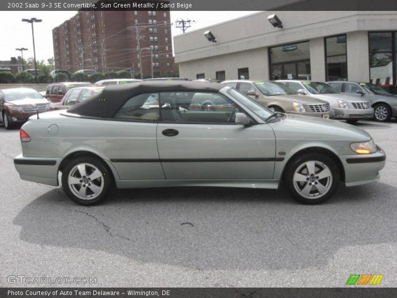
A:
<svg viewBox="0 0 397 298">
<path fill-rule="evenodd" d="M 138 47 L 144 77 L 151 75 L 151 61 L 154 77 L 178 73 L 169 11 L 79 11 L 53 29 L 53 42 L 56 69 L 71 73 L 131 70 L 138 75 Z"/>
</svg>

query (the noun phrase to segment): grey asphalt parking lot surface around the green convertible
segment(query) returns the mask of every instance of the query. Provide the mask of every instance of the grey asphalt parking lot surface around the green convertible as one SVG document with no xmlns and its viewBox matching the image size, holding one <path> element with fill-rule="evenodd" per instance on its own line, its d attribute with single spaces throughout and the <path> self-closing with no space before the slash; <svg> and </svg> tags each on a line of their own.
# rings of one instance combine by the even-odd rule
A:
<svg viewBox="0 0 397 298">
<path fill-rule="evenodd" d="M 356 124 L 385 149 L 379 182 L 320 206 L 285 190 L 115 191 L 82 207 L 19 179 L 18 129 L 0 126 L 1 287 L 7 276 L 96 278 L 97 287 L 344 287 L 351 274 L 397 284 L 397 121 Z"/>
</svg>

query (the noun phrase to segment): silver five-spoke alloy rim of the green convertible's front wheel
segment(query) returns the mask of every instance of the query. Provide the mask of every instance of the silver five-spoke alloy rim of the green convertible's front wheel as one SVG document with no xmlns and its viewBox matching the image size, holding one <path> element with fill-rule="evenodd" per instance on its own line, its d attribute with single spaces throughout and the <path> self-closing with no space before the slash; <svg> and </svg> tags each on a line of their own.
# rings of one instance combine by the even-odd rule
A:
<svg viewBox="0 0 397 298">
<path fill-rule="evenodd" d="M 306 199 L 321 198 L 331 189 L 331 169 L 321 161 L 306 161 L 295 170 L 293 185 L 297 193 Z"/>
</svg>

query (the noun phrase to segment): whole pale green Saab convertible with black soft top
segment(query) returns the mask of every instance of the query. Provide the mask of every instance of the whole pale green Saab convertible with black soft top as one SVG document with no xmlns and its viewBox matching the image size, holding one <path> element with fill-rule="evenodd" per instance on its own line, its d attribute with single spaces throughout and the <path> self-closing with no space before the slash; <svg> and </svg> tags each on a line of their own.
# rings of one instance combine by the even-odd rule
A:
<svg viewBox="0 0 397 298">
<path fill-rule="evenodd" d="M 205 105 L 203 104 L 205 102 Z M 385 152 L 362 129 L 273 112 L 234 88 L 156 81 L 110 86 L 67 111 L 30 117 L 14 159 L 24 180 L 59 185 L 75 203 L 118 188 L 276 189 L 329 199 L 340 181 L 377 181 Z"/>
</svg>

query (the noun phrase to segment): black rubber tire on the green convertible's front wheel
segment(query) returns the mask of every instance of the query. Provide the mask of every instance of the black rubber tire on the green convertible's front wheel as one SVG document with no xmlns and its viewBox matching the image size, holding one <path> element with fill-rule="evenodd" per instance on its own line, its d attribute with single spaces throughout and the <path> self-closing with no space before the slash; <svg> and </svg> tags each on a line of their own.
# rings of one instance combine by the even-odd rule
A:
<svg viewBox="0 0 397 298">
<path fill-rule="evenodd" d="M 307 162 L 315 162 L 314 176 L 308 176 L 308 173 L 305 173 L 306 171 L 309 172 L 309 168 L 305 165 Z M 328 168 L 328 171 L 330 172 L 331 179 L 317 176 L 317 174 L 322 173 L 321 169 L 325 170 L 326 168 Z M 307 153 L 296 157 L 291 161 L 291 163 L 289 163 L 288 167 L 285 169 L 285 173 L 285 183 L 291 195 L 298 202 L 309 205 L 317 205 L 329 200 L 336 191 L 340 180 L 340 173 L 336 163 L 328 155 L 321 153 Z M 294 181 L 295 173 L 297 173 L 297 177 Z M 326 174 L 328 172 L 324 173 Z M 303 182 L 297 182 L 296 180 L 299 180 L 298 178 L 301 177 L 299 175 L 306 176 L 306 181 L 300 180 Z M 316 182 L 317 184 L 315 185 Z M 320 188 L 318 188 L 318 186 L 322 187 L 322 191 L 326 189 L 323 195 L 321 195 L 319 190 Z M 309 190 L 309 193 L 307 196 L 304 196 L 303 193 L 307 189 Z M 298 192 L 298 190 L 302 192 Z M 318 195 L 316 195 L 316 193 L 318 193 Z M 312 197 L 308 198 L 308 196 Z"/>
</svg>

